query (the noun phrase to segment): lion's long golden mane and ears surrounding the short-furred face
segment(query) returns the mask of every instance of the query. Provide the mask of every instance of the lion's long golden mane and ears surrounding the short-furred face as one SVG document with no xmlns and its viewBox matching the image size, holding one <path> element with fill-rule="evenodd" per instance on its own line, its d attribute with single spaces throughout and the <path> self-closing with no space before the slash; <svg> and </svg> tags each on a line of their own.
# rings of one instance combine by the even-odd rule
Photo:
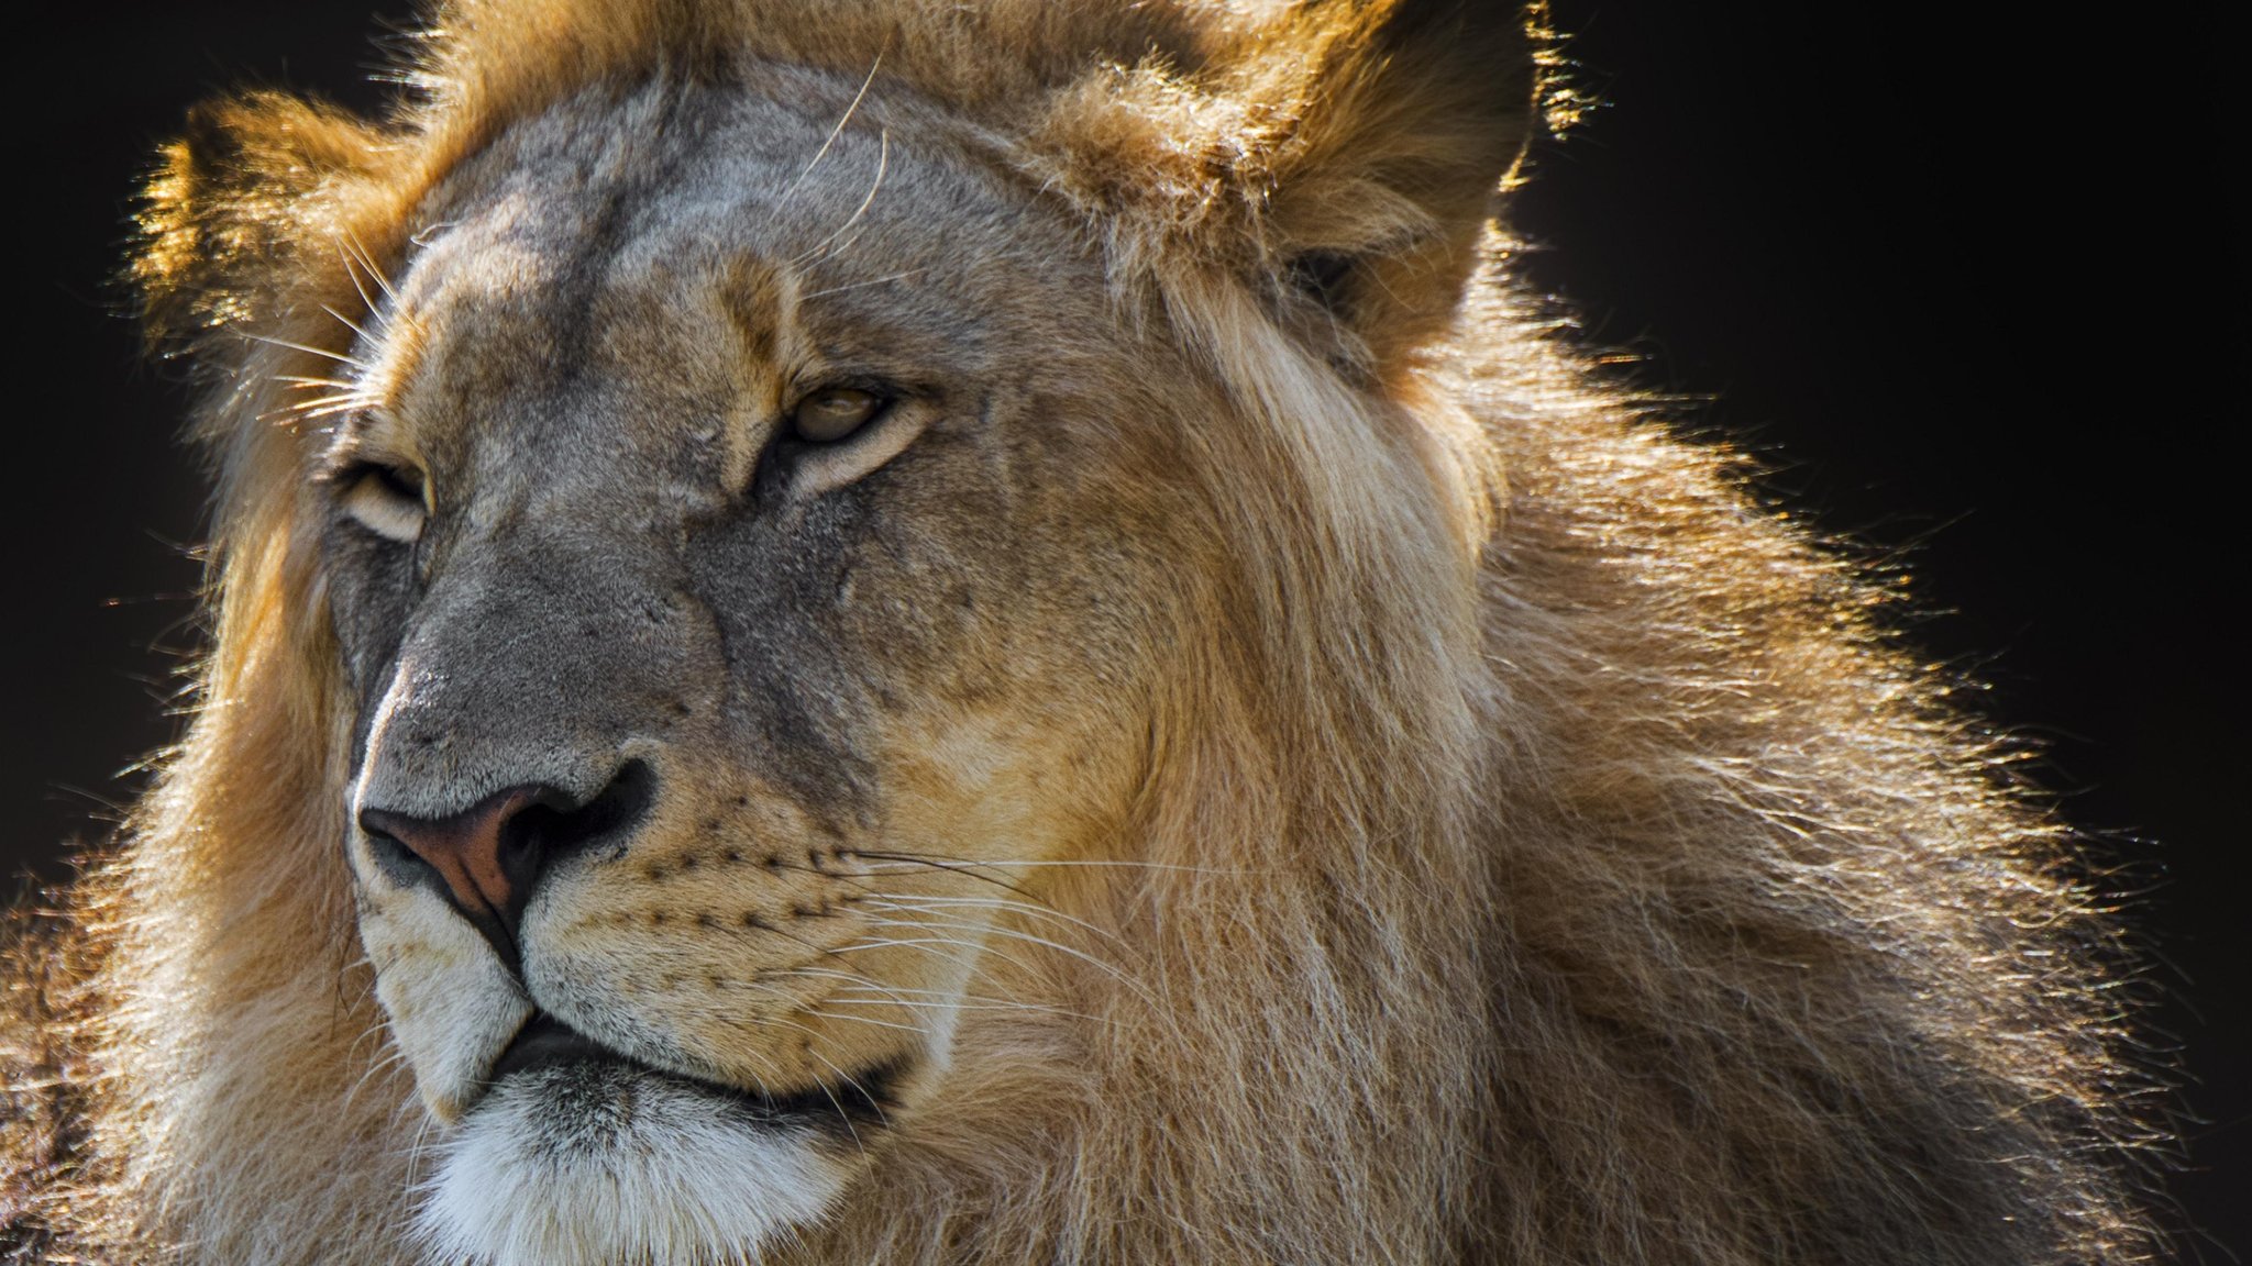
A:
<svg viewBox="0 0 2252 1266">
<path fill-rule="evenodd" d="M 462 0 L 381 124 L 198 115 L 135 275 L 225 365 L 214 649 L 117 854 L 11 951 L 7 1250 L 414 1259 L 428 1126 L 351 933 L 351 719 L 272 381 L 342 349 L 322 309 L 367 313 L 509 122 L 790 63 L 991 137 L 1236 426 L 1182 442 L 1214 541 L 1135 865 L 1043 890 L 1117 971 L 989 966 L 1047 1009 L 966 1018 L 935 1108 L 775 1259 L 2146 1259 L 2067 836 L 1883 586 L 1511 288 L 1482 225 L 1522 133 L 1450 119 L 1522 113 L 1538 32 L 1495 45 L 1516 79 L 1403 88 L 1394 7 Z M 1358 261 L 1356 311 L 1290 288 L 1308 257 Z"/>
</svg>

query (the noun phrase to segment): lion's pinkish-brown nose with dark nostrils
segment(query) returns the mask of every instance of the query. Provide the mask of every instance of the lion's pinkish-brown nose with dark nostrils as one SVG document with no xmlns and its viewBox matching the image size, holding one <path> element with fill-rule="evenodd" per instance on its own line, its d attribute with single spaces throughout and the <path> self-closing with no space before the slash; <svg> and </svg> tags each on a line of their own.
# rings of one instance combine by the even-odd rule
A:
<svg viewBox="0 0 2252 1266">
<path fill-rule="evenodd" d="M 649 809 L 651 782 L 649 766 L 628 761 L 592 800 L 525 784 L 446 818 L 365 806 L 360 829 L 378 849 L 403 849 L 437 872 L 453 906 L 513 960 L 516 926 L 540 874 L 597 840 L 628 836 Z"/>
</svg>

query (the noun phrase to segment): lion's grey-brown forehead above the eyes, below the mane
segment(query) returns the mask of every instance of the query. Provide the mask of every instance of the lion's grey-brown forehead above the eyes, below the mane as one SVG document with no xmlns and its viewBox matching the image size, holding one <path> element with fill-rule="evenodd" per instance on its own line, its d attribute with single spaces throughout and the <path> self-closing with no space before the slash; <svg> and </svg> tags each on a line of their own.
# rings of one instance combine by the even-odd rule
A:
<svg viewBox="0 0 2252 1266">
<path fill-rule="evenodd" d="M 610 342 L 577 342 L 624 356 L 640 345 L 619 331 L 757 327 L 786 306 L 815 340 L 874 327 L 867 340 L 955 358 L 1058 302 L 1101 311 L 1072 225 L 1031 214 L 953 137 L 689 99 L 642 135 L 635 101 L 565 104 L 504 135 L 421 207 L 401 306 L 473 340 L 563 347 L 599 327 Z"/>
</svg>

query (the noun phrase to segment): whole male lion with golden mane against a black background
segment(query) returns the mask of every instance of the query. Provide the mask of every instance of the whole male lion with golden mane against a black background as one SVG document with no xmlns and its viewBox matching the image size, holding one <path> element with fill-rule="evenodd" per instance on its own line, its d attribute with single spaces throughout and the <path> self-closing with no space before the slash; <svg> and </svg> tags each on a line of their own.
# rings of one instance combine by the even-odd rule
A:
<svg viewBox="0 0 2252 1266">
<path fill-rule="evenodd" d="M 2157 1250 L 2018 748 L 1511 282 L 1538 7 L 414 50 L 146 187 L 214 635 L 11 933 L 11 1259 Z"/>
</svg>

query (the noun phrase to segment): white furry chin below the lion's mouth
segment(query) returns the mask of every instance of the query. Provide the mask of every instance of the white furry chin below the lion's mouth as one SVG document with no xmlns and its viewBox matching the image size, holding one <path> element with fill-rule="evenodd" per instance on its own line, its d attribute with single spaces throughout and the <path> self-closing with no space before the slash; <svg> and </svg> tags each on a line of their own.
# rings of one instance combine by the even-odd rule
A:
<svg viewBox="0 0 2252 1266">
<path fill-rule="evenodd" d="M 430 1261 L 748 1266 L 842 1187 L 802 1126 L 682 1081 L 563 1066 L 502 1081 L 423 1185 Z"/>
</svg>

